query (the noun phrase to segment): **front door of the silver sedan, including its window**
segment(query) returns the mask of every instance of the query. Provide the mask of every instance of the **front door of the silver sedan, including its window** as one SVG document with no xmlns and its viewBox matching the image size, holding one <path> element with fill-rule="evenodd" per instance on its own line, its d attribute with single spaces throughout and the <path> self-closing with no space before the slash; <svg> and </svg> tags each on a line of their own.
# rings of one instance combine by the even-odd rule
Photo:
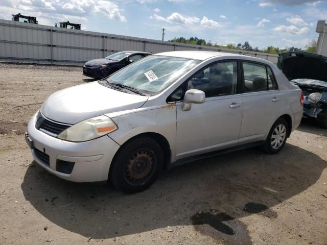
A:
<svg viewBox="0 0 327 245">
<path fill-rule="evenodd" d="M 204 91 L 206 99 L 190 111 L 177 102 L 177 160 L 238 144 L 243 109 L 238 80 L 238 62 L 224 61 L 206 66 L 187 82 L 187 89 Z"/>
</svg>

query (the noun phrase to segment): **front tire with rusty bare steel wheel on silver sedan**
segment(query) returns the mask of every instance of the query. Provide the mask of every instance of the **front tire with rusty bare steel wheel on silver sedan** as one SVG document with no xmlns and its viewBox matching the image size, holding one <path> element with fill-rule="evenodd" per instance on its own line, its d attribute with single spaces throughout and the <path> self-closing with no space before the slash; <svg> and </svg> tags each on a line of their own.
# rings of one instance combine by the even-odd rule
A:
<svg viewBox="0 0 327 245">
<path fill-rule="evenodd" d="M 122 146 L 114 157 L 109 179 L 126 193 L 143 191 L 150 187 L 164 164 L 160 145 L 152 138 L 138 137 Z"/>
</svg>

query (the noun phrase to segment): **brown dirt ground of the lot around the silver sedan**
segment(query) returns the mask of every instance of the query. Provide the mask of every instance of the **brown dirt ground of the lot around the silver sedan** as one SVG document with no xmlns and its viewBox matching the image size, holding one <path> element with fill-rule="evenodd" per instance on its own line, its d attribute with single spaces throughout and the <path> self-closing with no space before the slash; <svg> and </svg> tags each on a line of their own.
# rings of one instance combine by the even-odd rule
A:
<svg viewBox="0 0 327 245">
<path fill-rule="evenodd" d="M 327 244 L 327 130 L 310 120 L 277 155 L 197 161 L 133 195 L 43 170 L 27 122 L 81 72 L 0 63 L 0 244 Z"/>
</svg>

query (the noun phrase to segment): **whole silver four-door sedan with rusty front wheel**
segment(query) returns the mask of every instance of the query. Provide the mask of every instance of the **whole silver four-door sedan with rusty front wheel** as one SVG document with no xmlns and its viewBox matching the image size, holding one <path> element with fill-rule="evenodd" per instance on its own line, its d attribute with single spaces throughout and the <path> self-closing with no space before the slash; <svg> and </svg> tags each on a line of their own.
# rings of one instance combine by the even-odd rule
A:
<svg viewBox="0 0 327 245">
<path fill-rule="evenodd" d="M 260 145 L 282 150 L 303 94 L 269 61 L 177 51 L 52 94 L 28 124 L 35 161 L 75 182 L 148 188 L 160 170 Z"/>
</svg>

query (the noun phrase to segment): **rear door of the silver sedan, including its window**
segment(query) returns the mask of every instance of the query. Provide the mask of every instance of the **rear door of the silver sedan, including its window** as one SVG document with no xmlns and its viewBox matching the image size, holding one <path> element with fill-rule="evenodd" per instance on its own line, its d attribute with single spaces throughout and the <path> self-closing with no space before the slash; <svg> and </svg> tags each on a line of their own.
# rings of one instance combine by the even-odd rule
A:
<svg viewBox="0 0 327 245">
<path fill-rule="evenodd" d="M 243 61 L 241 68 L 243 119 L 240 144 L 264 140 L 274 121 L 280 116 L 278 108 L 284 103 L 283 93 L 278 90 L 269 66 Z"/>
</svg>

